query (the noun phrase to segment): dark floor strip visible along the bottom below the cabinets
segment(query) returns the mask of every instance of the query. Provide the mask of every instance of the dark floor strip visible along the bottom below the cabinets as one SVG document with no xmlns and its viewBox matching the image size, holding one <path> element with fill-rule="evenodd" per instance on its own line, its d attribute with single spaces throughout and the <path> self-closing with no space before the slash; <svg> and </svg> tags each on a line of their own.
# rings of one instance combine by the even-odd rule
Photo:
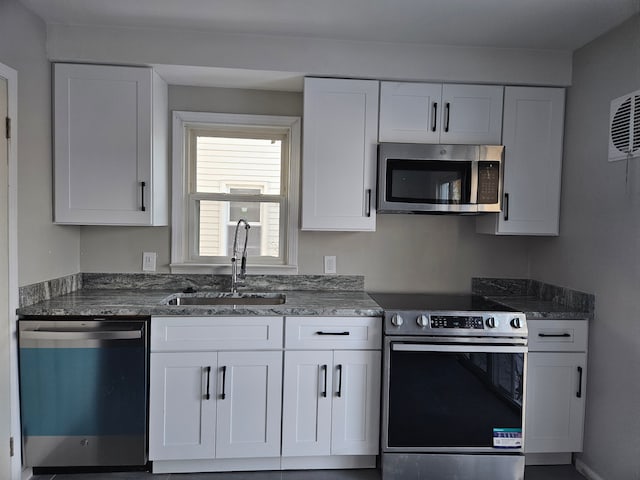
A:
<svg viewBox="0 0 640 480">
<path fill-rule="evenodd" d="M 35 475 L 33 480 L 380 480 L 377 470 L 305 470 L 284 472 L 233 472 L 159 474 L 81 473 Z M 407 479 L 410 480 L 410 479 Z M 475 480 L 475 479 L 474 479 Z M 477 479 L 490 480 L 490 479 Z M 525 480 L 584 480 L 571 465 L 529 466 Z"/>
</svg>

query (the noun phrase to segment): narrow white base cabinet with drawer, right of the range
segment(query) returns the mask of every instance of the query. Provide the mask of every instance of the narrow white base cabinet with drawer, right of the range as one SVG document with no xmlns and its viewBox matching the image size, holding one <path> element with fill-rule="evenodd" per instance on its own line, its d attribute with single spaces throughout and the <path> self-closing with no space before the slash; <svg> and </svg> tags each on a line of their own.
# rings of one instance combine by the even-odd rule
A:
<svg viewBox="0 0 640 480">
<path fill-rule="evenodd" d="M 587 320 L 529 320 L 528 324 L 527 463 L 570 463 L 571 453 L 582 451 Z"/>
</svg>

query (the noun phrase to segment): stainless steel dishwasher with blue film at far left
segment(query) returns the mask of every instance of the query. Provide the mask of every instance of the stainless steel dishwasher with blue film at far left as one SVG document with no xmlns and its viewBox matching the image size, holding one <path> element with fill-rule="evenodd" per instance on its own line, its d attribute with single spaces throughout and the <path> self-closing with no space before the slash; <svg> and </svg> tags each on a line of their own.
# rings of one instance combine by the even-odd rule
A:
<svg viewBox="0 0 640 480">
<path fill-rule="evenodd" d="M 24 464 L 147 462 L 147 332 L 138 318 L 18 321 Z"/>
</svg>

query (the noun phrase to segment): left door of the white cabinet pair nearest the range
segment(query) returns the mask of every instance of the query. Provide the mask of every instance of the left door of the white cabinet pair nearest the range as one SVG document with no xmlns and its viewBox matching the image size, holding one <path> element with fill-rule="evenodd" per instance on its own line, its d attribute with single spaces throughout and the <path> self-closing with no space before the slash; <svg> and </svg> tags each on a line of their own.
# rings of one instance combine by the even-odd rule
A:
<svg viewBox="0 0 640 480">
<path fill-rule="evenodd" d="M 284 354 L 282 456 L 331 454 L 333 352 Z"/>
</svg>

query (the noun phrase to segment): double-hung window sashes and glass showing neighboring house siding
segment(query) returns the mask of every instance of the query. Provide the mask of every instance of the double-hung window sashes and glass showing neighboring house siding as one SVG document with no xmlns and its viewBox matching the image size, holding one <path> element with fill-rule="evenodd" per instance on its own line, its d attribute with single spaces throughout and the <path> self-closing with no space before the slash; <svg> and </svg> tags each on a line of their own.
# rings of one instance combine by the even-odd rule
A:
<svg viewBox="0 0 640 480">
<path fill-rule="evenodd" d="M 192 258 L 231 256 L 235 227 L 243 218 L 251 225 L 249 258 L 283 263 L 287 136 L 259 127 L 189 133 Z M 239 242 L 244 244 L 244 229 Z"/>
</svg>

